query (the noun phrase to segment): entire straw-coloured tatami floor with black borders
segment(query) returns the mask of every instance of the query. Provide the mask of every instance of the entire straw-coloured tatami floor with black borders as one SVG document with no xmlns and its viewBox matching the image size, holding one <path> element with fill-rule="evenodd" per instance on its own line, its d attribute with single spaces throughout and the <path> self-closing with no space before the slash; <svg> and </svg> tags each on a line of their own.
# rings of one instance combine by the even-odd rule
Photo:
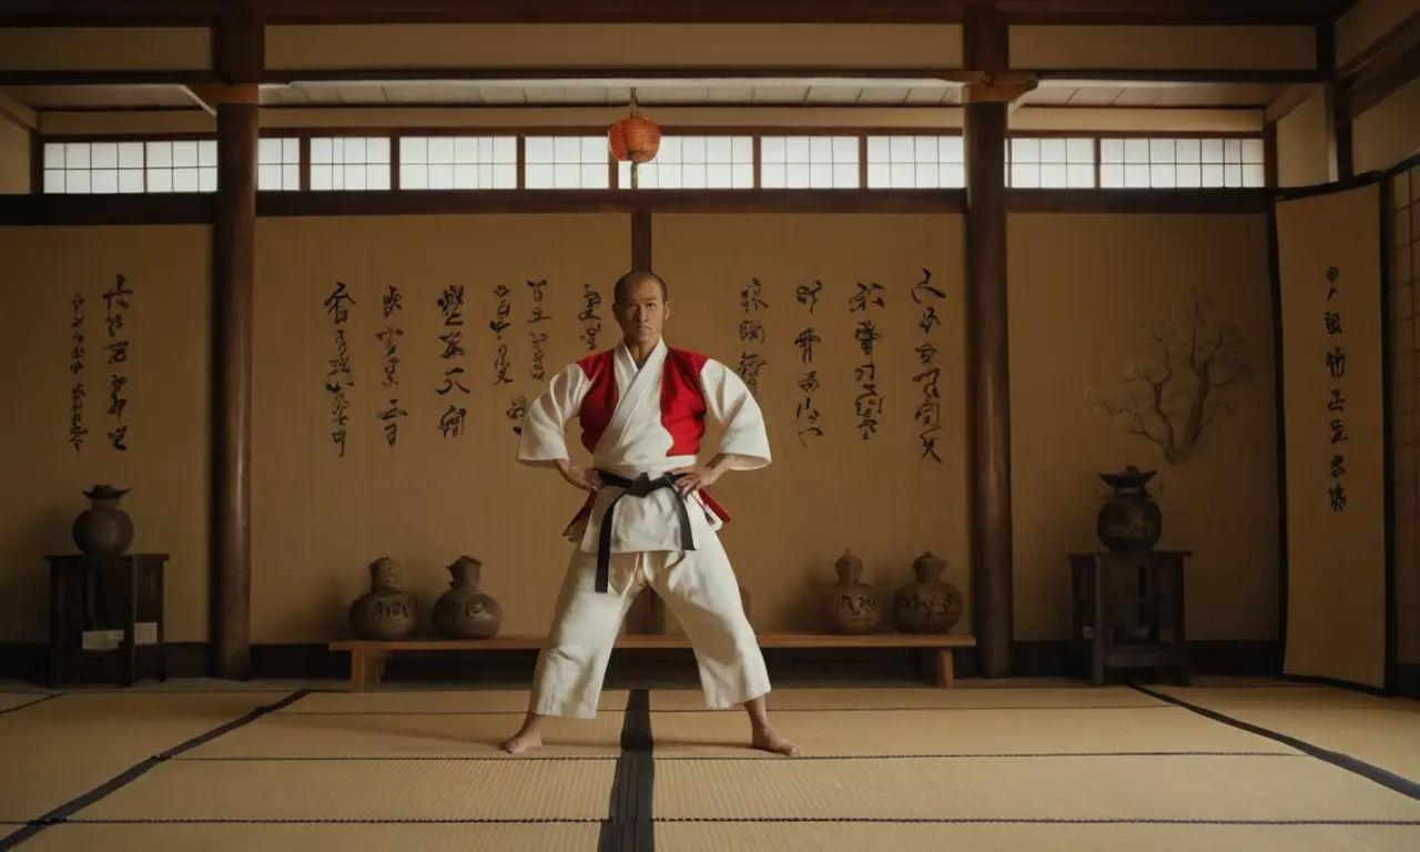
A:
<svg viewBox="0 0 1420 852">
<path fill-rule="evenodd" d="M 1267 682 L 696 690 L 511 758 L 523 690 L 0 684 L 0 849 L 1420 849 L 1420 704 Z"/>
</svg>

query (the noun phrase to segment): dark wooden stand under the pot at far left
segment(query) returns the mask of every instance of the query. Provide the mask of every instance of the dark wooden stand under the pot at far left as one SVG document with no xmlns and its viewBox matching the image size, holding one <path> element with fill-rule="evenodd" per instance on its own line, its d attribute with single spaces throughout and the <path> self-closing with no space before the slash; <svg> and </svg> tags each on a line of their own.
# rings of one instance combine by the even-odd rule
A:
<svg viewBox="0 0 1420 852">
<path fill-rule="evenodd" d="M 163 564 L 168 554 L 45 557 L 50 684 L 168 680 Z"/>
</svg>

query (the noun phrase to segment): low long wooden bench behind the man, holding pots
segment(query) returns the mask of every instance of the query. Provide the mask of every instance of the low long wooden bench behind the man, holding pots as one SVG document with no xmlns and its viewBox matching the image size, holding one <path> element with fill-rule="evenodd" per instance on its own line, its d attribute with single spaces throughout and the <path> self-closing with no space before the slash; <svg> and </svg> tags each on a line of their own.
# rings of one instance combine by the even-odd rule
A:
<svg viewBox="0 0 1420 852">
<path fill-rule="evenodd" d="M 920 648 L 932 656 L 937 686 L 951 686 L 954 670 L 951 652 L 956 648 L 976 648 L 976 636 L 950 633 L 863 633 L 839 636 L 834 633 L 760 633 L 760 648 Z M 366 683 L 375 686 L 385 676 L 385 660 L 402 652 L 443 650 L 538 650 L 542 636 L 494 636 L 493 639 L 338 639 L 329 649 L 351 655 L 351 692 L 362 692 Z M 684 636 L 622 635 L 616 648 L 677 649 L 690 648 Z"/>
</svg>

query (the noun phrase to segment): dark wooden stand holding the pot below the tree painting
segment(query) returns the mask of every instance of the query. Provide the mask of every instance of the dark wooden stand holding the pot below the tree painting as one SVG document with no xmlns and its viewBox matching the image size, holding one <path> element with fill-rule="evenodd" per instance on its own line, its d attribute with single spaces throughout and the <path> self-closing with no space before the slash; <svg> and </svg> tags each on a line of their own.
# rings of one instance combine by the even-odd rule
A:
<svg viewBox="0 0 1420 852">
<path fill-rule="evenodd" d="M 1072 650 L 1091 686 L 1106 669 L 1170 669 L 1189 682 L 1183 562 L 1193 551 L 1071 554 Z M 1127 589 L 1127 591 L 1126 591 Z"/>
</svg>

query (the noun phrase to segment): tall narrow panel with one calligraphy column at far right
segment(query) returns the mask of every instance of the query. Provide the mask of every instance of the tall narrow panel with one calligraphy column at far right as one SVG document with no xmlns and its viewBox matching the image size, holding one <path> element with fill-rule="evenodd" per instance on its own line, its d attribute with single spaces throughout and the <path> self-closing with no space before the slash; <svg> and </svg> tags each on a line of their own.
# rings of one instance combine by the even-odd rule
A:
<svg viewBox="0 0 1420 852">
<path fill-rule="evenodd" d="M 1289 674 L 1383 686 L 1380 186 L 1277 204 Z"/>
</svg>

